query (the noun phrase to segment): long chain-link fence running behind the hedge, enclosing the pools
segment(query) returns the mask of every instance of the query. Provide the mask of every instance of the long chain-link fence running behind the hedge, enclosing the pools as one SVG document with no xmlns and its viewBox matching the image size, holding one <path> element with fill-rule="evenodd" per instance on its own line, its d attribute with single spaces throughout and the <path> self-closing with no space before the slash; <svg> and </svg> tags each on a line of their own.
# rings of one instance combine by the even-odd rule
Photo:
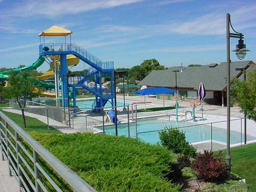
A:
<svg viewBox="0 0 256 192">
<path fill-rule="evenodd" d="M 15 103 L 11 103 L 15 106 Z M 20 108 L 2 108 L 4 112 L 22 114 Z M 186 111 L 186 109 L 180 112 Z M 56 108 L 45 104 L 35 104 L 28 102 L 28 107 L 24 109 L 25 115 L 35 118 L 42 123 L 44 129 L 34 127 L 31 131 L 41 133 L 76 133 L 76 132 L 92 132 L 108 135 L 124 135 L 143 140 L 144 142 L 156 144 L 159 142 L 159 131 L 167 127 L 179 127 L 186 133 L 186 140 L 202 150 L 222 150 L 226 147 L 226 121 L 205 123 L 205 121 L 197 121 L 191 123 L 183 120 L 183 122 L 175 121 L 175 110 L 161 111 L 157 115 L 148 118 L 141 117 L 137 112 L 137 106 L 130 105 L 99 108 L 100 113 L 94 113 L 92 108 L 77 109 L 74 113 L 73 109 Z M 113 113 L 110 114 L 109 112 Z M 115 115 L 116 112 L 116 116 Z M 114 115 L 113 115 L 114 114 Z M 150 113 L 148 113 L 150 114 Z M 113 121 L 119 121 L 114 124 Z M 183 117 L 184 119 L 184 117 Z M 27 121 L 31 121 L 28 119 Z M 33 127 L 32 127 L 33 128 Z M 244 118 L 232 119 L 230 121 L 230 144 L 237 145 L 244 142 Z M 247 135 L 247 141 L 256 138 Z"/>
</svg>

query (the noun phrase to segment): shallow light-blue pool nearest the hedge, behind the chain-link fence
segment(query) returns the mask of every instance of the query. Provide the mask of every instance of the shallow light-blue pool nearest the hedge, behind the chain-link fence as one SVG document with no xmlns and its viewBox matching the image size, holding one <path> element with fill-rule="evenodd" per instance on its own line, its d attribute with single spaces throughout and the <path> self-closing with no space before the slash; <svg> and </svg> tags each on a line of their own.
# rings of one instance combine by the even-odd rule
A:
<svg viewBox="0 0 256 192">
<path fill-rule="evenodd" d="M 118 135 L 124 135 L 130 137 L 136 137 L 138 133 L 138 138 L 145 142 L 156 144 L 159 140 L 159 134 L 157 131 L 163 130 L 164 127 L 180 127 L 186 135 L 186 140 L 189 143 L 196 143 L 200 141 L 215 140 L 218 142 L 226 143 L 226 130 L 216 126 L 210 126 L 207 124 L 197 124 L 191 122 L 176 122 L 168 121 L 164 119 L 154 119 L 154 120 L 143 120 L 136 123 L 132 122 L 130 127 L 127 124 L 118 124 Z M 186 127 L 184 127 L 186 126 Z M 130 129 L 129 129 L 130 128 Z M 130 131 L 129 131 L 130 130 Z M 108 135 L 115 135 L 115 125 L 105 126 L 105 133 Z M 236 144 L 243 142 L 243 134 L 230 131 L 230 144 Z M 247 135 L 247 140 L 255 140 L 255 137 Z"/>
</svg>

